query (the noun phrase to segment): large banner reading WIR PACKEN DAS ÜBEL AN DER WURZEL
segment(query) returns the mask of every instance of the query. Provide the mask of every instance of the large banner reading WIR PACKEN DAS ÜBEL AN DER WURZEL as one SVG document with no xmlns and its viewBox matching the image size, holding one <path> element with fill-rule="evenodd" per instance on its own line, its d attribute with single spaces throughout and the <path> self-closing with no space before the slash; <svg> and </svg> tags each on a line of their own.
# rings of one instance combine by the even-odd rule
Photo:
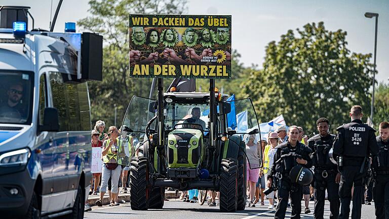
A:
<svg viewBox="0 0 389 219">
<path fill-rule="evenodd" d="M 132 78 L 231 78 L 230 15 L 130 14 Z"/>
</svg>

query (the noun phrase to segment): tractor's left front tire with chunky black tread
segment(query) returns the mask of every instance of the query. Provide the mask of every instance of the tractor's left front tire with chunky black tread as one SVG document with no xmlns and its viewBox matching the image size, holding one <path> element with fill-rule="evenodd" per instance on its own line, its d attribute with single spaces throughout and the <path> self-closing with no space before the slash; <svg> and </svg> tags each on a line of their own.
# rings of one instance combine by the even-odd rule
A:
<svg viewBox="0 0 389 219">
<path fill-rule="evenodd" d="M 148 209 L 148 159 L 133 158 L 130 167 L 130 203 L 133 210 Z"/>
</svg>

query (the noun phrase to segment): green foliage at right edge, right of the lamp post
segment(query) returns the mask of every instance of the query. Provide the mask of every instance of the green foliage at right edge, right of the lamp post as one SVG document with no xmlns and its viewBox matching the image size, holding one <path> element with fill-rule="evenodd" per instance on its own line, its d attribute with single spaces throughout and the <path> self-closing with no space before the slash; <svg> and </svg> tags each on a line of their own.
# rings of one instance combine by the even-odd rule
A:
<svg viewBox="0 0 389 219">
<path fill-rule="evenodd" d="M 379 84 L 374 95 L 374 128 L 378 130 L 380 122 L 389 121 L 389 84 Z"/>
</svg>

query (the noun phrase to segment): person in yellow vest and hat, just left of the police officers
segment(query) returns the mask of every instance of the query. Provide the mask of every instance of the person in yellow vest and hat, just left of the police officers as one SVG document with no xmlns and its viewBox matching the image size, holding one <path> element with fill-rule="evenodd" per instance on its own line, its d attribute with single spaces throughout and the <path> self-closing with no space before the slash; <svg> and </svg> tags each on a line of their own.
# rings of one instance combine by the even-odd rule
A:
<svg viewBox="0 0 389 219">
<path fill-rule="evenodd" d="M 267 176 L 269 173 L 269 168 L 273 166 L 274 163 L 274 155 L 276 154 L 277 149 L 277 142 L 278 142 L 278 134 L 277 132 L 271 132 L 269 134 L 269 144 L 266 145 L 265 151 L 263 153 L 263 173 L 265 174 L 265 181 L 267 181 Z M 267 189 L 267 188 L 266 188 Z M 269 206 L 267 209 L 273 210 L 274 208 L 274 192 L 271 192 L 269 195 L 267 195 L 267 198 L 269 199 Z"/>
</svg>

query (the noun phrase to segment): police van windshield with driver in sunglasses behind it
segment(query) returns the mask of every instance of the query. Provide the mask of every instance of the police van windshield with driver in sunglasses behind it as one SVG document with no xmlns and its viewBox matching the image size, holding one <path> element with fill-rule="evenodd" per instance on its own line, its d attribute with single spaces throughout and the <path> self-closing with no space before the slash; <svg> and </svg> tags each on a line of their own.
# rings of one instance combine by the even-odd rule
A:
<svg viewBox="0 0 389 219">
<path fill-rule="evenodd" d="M 31 124 L 32 72 L 0 70 L 0 123 Z"/>
</svg>

